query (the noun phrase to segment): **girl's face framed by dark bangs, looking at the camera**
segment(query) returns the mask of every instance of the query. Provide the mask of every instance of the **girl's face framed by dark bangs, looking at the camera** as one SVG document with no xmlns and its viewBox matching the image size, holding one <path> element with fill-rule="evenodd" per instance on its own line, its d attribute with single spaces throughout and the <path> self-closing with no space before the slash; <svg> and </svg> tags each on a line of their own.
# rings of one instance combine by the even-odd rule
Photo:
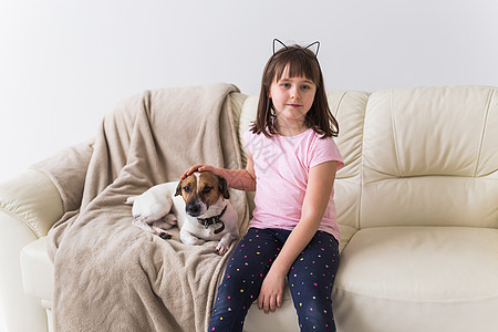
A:
<svg viewBox="0 0 498 332">
<path fill-rule="evenodd" d="M 271 83 L 269 97 L 273 103 L 280 132 L 287 126 L 303 129 L 304 117 L 313 105 L 315 92 L 317 85 L 311 80 L 290 77 L 289 68 L 286 68 L 280 79 Z"/>
</svg>

